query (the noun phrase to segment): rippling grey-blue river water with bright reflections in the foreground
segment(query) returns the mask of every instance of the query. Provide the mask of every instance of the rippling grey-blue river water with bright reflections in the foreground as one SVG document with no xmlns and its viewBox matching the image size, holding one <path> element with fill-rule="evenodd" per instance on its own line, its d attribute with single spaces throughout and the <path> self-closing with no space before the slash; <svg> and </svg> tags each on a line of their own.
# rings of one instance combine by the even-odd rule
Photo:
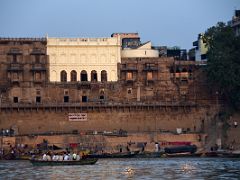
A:
<svg viewBox="0 0 240 180">
<path fill-rule="evenodd" d="M 0 161 L 0 179 L 240 179 L 240 159 L 99 159 L 95 165 L 32 166 Z"/>
</svg>

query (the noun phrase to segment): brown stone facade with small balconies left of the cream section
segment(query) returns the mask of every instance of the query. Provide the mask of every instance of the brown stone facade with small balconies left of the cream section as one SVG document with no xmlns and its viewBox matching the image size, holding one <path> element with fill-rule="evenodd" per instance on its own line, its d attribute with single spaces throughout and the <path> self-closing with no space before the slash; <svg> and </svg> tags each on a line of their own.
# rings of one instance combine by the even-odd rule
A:
<svg viewBox="0 0 240 180">
<path fill-rule="evenodd" d="M 46 43 L 45 38 L 0 38 L 1 104 L 41 102 L 49 77 Z"/>
</svg>

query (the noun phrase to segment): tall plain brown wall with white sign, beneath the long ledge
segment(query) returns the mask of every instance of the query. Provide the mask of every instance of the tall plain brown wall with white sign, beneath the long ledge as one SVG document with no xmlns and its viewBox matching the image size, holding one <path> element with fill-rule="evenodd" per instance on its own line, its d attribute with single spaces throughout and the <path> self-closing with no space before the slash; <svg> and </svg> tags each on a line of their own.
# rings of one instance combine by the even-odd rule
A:
<svg viewBox="0 0 240 180">
<path fill-rule="evenodd" d="M 0 114 L 0 127 L 15 127 L 19 134 L 45 132 L 113 131 L 124 129 L 129 132 L 153 132 L 183 128 L 191 132 L 202 130 L 202 121 L 207 120 L 207 108 L 160 108 L 144 107 L 142 109 L 121 107 L 96 108 L 80 110 L 70 108 L 18 109 L 5 110 Z M 87 113 L 87 121 L 70 122 L 68 113 Z"/>
</svg>

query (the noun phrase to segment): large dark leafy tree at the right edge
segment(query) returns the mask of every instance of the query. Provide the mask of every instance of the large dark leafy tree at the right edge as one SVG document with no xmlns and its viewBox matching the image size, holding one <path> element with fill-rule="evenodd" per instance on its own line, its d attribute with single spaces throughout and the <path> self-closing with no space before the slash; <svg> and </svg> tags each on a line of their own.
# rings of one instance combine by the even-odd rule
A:
<svg viewBox="0 0 240 180">
<path fill-rule="evenodd" d="M 209 28 L 204 40 L 207 52 L 207 79 L 225 100 L 240 107 L 240 37 L 224 23 Z"/>
</svg>

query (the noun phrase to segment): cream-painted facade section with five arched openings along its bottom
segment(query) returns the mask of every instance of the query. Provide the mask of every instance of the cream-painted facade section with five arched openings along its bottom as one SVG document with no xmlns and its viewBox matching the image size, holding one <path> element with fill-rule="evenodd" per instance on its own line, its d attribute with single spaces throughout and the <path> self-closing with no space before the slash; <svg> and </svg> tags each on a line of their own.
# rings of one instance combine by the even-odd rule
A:
<svg viewBox="0 0 240 180">
<path fill-rule="evenodd" d="M 117 81 L 120 38 L 47 38 L 51 82 Z"/>
</svg>

